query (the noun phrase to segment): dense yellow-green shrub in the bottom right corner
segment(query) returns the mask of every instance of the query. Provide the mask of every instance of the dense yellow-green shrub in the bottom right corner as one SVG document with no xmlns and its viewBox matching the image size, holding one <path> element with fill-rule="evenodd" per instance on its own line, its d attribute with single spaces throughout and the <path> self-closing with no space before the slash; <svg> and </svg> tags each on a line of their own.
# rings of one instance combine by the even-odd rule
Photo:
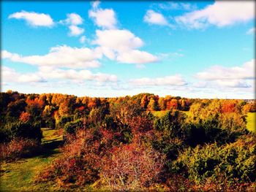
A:
<svg viewBox="0 0 256 192">
<path fill-rule="evenodd" d="M 173 168 L 179 173 L 187 174 L 189 179 L 201 183 L 206 178 L 222 175 L 229 184 L 255 182 L 256 172 L 255 137 L 238 139 L 238 141 L 218 147 L 217 143 L 188 148 L 180 153 Z"/>
</svg>

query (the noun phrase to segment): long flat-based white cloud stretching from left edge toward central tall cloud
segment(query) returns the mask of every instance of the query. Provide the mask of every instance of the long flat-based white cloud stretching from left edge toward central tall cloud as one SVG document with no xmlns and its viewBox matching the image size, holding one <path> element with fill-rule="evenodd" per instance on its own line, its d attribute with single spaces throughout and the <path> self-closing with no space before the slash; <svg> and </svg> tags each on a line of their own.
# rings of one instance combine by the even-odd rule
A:
<svg viewBox="0 0 256 192">
<path fill-rule="evenodd" d="M 97 59 L 102 58 L 102 53 L 87 47 L 68 47 L 67 45 L 51 47 L 46 55 L 22 56 L 15 53 L 2 51 L 3 58 L 11 61 L 39 66 L 55 66 L 66 68 L 99 67 Z"/>
</svg>

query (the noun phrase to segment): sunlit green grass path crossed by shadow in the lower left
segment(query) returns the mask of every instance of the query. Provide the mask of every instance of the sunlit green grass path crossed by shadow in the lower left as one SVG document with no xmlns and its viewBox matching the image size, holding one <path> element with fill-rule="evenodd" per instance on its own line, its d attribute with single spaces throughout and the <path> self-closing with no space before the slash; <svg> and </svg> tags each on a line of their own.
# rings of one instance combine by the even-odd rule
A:
<svg viewBox="0 0 256 192">
<path fill-rule="evenodd" d="M 62 135 L 59 130 L 42 128 L 43 153 L 31 158 L 4 163 L 0 169 L 0 191 L 49 191 L 49 183 L 34 183 L 34 177 L 59 155 Z"/>
</svg>

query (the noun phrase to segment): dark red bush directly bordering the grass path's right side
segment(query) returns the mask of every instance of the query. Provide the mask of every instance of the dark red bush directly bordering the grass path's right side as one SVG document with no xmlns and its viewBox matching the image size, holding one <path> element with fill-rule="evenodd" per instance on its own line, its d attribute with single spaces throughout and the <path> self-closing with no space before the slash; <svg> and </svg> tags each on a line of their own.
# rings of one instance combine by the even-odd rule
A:
<svg viewBox="0 0 256 192">
<path fill-rule="evenodd" d="M 61 185 L 93 183 L 98 179 L 99 147 L 91 130 L 68 135 L 66 144 L 61 148 L 61 158 L 39 175 L 38 180 L 56 180 Z"/>
</svg>

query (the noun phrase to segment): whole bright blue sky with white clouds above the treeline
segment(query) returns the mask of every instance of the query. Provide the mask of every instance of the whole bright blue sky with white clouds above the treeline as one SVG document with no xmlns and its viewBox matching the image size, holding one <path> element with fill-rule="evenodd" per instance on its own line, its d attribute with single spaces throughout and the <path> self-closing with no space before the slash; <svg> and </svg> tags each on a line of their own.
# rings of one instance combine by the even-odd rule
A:
<svg viewBox="0 0 256 192">
<path fill-rule="evenodd" d="M 255 99 L 255 1 L 1 1 L 1 91 Z"/>
</svg>

